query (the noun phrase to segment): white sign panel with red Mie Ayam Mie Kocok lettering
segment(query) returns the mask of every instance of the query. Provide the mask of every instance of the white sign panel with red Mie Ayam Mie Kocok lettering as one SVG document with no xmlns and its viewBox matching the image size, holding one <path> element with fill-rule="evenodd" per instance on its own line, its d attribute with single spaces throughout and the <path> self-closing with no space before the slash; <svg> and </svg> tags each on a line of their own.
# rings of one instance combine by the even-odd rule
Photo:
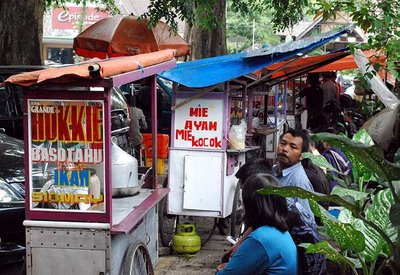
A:
<svg viewBox="0 0 400 275">
<path fill-rule="evenodd" d="M 184 99 L 177 99 L 176 103 Z M 193 99 L 175 110 L 174 146 L 222 149 L 223 100 Z"/>
</svg>

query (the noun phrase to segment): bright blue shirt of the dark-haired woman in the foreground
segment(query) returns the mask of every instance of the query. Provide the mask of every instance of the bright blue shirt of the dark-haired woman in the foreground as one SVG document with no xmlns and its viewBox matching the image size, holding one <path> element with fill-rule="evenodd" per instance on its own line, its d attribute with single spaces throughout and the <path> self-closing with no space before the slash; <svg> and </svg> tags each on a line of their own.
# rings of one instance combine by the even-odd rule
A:
<svg viewBox="0 0 400 275">
<path fill-rule="evenodd" d="M 239 246 L 217 274 L 297 274 L 297 251 L 289 232 L 261 226 Z"/>
</svg>

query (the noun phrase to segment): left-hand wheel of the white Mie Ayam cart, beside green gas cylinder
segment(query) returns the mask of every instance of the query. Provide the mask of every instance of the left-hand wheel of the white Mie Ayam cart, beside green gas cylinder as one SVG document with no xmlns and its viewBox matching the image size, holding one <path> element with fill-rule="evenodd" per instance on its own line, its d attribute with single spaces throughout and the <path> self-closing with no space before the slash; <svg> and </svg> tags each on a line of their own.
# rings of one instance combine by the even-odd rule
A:
<svg viewBox="0 0 400 275">
<path fill-rule="evenodd" d="M 167 183 L 168 178 L 164 180 L 163 187 L 167 187 Z M 178 216 L 167 214 L 167 197 L 163 198 L 158 204 L 158 227 L 161 244 L 165 247 L 170 246 L 176 231 L 177 219 Z"/>
</svg>

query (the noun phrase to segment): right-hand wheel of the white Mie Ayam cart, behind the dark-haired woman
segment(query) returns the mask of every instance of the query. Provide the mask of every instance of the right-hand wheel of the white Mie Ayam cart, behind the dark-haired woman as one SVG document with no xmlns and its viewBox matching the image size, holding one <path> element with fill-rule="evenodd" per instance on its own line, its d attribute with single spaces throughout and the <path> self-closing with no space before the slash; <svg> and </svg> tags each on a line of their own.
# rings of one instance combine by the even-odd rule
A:
<svg viewBox="0 0 400 275">
<path fill-rule="evenodd" d="M 236 239 L 239 238 L 244 230 L 243 223 L 243 201 L 242 201 L 242 189 L 240 188 L 240 182 L 236 184 L 235 195 L 233 196 L 233 206 L 231 214 L 231 236 Z"/>
</svg>

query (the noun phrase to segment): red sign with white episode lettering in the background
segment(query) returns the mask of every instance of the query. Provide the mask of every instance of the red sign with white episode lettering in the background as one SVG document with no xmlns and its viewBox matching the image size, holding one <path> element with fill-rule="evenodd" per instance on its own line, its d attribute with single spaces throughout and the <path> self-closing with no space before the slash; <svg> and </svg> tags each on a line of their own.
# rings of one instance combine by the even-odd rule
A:
<svg viewBox="0 0 400 275">
<path fill-rule="evenodd" d="M 54 9 L 51 15 L 53 29 L 75 29 L 79 20 L 83 17 L 83 28 L 93 25 L 97 21 L 110 16 L 109 14 L 97 11 L 96 8 L 86 7 L 83 11 L 81 7 L 67 7 Z"/>
</svg>

